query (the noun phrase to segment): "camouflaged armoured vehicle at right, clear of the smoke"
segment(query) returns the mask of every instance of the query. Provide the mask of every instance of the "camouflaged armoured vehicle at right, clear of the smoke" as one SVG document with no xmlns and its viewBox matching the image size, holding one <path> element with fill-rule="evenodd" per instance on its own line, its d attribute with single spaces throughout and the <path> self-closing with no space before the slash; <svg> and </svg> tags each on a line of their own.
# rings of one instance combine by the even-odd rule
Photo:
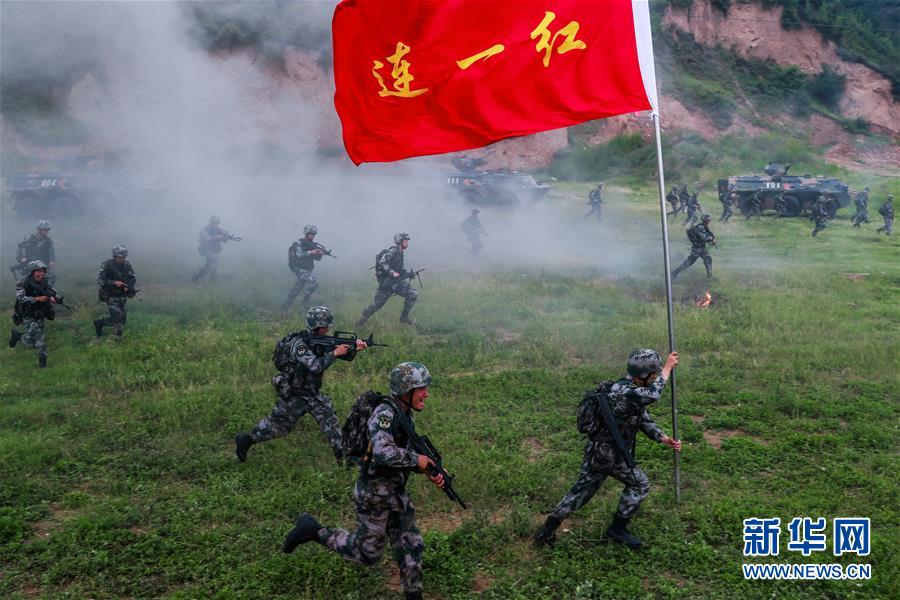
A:
<svg viewBox="0 0 900 600">
<path fill-rule="evenodd" d="M 718 181 L 719 197 L 734 191 L 738 195 L 737 208 L 742 214 L 750 212 L 750 201 L 759 192 L 763 210 L 774 210 L 783 217 L 796 217 L 809 211 L 819 194 L 830 194 L 829 216 L 850 203 L 847 185 L 831 177 L 788 175 L 790 164 L 769 163 L 765 175 L 734 175 Z"/>
</svg>

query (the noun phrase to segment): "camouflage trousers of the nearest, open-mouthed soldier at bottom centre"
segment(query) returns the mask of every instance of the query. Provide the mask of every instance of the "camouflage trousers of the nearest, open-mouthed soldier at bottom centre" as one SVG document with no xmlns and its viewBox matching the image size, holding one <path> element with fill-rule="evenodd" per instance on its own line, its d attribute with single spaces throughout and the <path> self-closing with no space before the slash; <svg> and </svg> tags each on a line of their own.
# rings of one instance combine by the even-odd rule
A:
<svg viewBox="0 0 900 600">
<path fill-rule="evenodd" d="M 353 492 L 356 531 L 324 528 L 319 541 L 343 558 L 366 566 L 384 554 L 385 534 L 400 568 L 405 592 L 422 591 L 422 555 L 425 543 L 416 525 L 416 510 L 405 491 L 382 494 L 369 480 L 358 479 Z"/>
</svg>

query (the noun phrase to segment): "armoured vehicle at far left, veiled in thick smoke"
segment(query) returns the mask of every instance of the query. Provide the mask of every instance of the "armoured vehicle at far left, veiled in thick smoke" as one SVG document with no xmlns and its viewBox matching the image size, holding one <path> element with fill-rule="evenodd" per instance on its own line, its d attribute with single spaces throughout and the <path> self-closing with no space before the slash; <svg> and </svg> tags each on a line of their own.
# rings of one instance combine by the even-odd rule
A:
<svg viewBox="0 0 900 600">
<path fill-rule="evenodd" d="M 17 174 L 6 178 L 4 192 L 16 213 L 33 218 L 78 216 L 91 206 L 147 209 L 163 194 L 160 186 L 124 173 L 96 172 Z"/>
</svg>

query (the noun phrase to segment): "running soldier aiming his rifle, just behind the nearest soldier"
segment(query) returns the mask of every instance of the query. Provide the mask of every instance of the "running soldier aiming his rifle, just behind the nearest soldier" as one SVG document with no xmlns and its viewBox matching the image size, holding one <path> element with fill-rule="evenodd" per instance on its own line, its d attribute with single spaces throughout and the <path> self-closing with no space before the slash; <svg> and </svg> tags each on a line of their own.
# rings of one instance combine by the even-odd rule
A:
<svg viewBox="0 0 900 600">
<path fill-rule="evenodd" d="M 241 462 L 247 460 L 250 446 L 286 436 L 306 413 L 312 414 L 319 424 L 338 462 L 344 459 L 341 428 L 331 398 L 321 393 L 322 379 L 335 360 L 352 361 L 357 352 L 368 346 L 362 340 L 356 340 L 356 347 L 341 344 L 333 349 L 315 343 L 312 338 L 328 335 L 334 325 L 334 315 L 328 307 L 310 308 L 306 325 L 306 331 L 291 334 L 275 346 L 275 365 L 281 373 L 272 378 L 272 386 L 278 394 L 278 403 L 250 433 L 240 432 L 235 436 L 235 453 Z"/>
</svg>

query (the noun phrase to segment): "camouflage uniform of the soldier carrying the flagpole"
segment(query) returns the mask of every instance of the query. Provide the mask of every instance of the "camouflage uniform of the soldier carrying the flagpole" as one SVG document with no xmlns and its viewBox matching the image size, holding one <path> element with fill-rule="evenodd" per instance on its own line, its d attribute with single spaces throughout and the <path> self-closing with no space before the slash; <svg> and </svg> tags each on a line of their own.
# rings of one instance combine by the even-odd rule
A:
<svg viewBox="0 0 900 600">
<path fill-rule="evenodd" d="M 650 417 L 646 406 L 659 400 L 665 385 L 666 380 L 657 377 L 648 387 L 638 387 L 629 375 L 613 384 L 609 391 L 609 405 L 620 424 L 625 444 L 632 452 L 638 430 L 656 442 L 663 437 L 662 430 Z M 635 467 L 633 471 L 628 468 L 619 455 L 612 435 L 604 429 L 595 439 L 588 440 L 578 480 L 563 496 L 552 515 L 560 521 L 566 519 L 593 498 L 607 477 L 625 484 L 616 515 L 630 519 L 647 497 L 650 480 L 640 467 Z"/>
</svg>

